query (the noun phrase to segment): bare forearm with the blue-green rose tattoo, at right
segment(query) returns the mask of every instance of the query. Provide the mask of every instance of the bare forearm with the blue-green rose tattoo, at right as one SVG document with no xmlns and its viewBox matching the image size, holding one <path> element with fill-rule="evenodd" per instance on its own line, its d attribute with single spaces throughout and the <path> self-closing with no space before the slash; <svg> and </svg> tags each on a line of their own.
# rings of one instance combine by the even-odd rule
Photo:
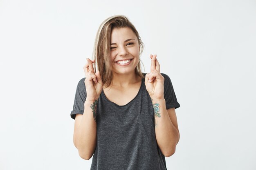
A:
<svg viewBox="0 0 256 170">
<path fill-rule="evenodd" d="M 169 157 L 175 152 L 179 141 L 179 132 L 171 122 L 165 105 L 165 99 L 153 99 L 155 108 L 155 135 L 162 153 Z M 157 109 L 159 107 L 159 110 Z"/>
</svg>

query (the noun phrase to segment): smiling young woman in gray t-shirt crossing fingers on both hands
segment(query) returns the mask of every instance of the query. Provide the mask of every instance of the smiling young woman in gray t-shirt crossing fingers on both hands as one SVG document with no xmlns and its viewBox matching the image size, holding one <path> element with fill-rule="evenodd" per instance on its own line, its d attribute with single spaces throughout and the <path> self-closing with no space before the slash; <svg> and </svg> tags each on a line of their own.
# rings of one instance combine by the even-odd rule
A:
<svg viewBox="0 0 256 170">
<path fill-rule="evenodd" d="M 165 157 L 175 152 L 180 104 L 156 55 L 150 73 L 141 72 L 143 47 L 124 15 L 99 27 L 71 112 L 74 145 L 81 158 L 93 155 L 91 170 L 166 170 Z"/>
</svg>

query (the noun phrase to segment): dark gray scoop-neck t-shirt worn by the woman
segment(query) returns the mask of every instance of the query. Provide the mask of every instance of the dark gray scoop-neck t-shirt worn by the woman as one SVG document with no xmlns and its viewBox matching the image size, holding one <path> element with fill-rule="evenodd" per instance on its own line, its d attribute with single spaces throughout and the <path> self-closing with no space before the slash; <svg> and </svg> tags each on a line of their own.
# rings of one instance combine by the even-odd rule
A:
<svg viewBox="0 0 256 170">
<path fill-rule="evenodd" d="M 145 75 L 145 73 L 143 73 Z M 166 109 L 178 108 L 170 77 L 164 76 Z M 82 78 L 76 88 L 70 116 L 83 114 L 86 90 Z M 136 97 L 119 106 L 102 91 L 97 105 L 97 146 L 90 170 L 166 170 L 165 157 L 157 146 L 153 105 L 141 79 Z"/>
</svg>

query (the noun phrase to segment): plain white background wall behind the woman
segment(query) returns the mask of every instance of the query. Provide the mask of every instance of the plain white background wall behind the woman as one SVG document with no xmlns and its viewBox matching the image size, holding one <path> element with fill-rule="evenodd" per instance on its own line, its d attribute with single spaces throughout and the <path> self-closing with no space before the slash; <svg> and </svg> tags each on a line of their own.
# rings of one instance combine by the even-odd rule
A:
<svg viewBox="0 0 256 170">
<path fill-rule="evenodd" d="M 255 0 L 0 0 L 0 170 L 90 169 L 70 112 L 99 25 L 117 14 L 181 105 L 167 169 L 255 170 Z"/>
</svg>

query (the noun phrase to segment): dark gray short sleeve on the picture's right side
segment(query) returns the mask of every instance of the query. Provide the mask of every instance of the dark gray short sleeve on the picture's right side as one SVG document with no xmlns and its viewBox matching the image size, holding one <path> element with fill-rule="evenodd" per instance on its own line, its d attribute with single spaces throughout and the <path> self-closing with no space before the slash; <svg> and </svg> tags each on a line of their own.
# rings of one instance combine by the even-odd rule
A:
<svg viewBox="0 0 256 170">
<path fill-rule="evenodd" d="M 169 108 L 179 108 L 180 104 L 177 101 L 171 79 L 168 75 L 161 73 L 164 76 L 164 99 L 166 104 L 166 109 Z"/>
</svg>

